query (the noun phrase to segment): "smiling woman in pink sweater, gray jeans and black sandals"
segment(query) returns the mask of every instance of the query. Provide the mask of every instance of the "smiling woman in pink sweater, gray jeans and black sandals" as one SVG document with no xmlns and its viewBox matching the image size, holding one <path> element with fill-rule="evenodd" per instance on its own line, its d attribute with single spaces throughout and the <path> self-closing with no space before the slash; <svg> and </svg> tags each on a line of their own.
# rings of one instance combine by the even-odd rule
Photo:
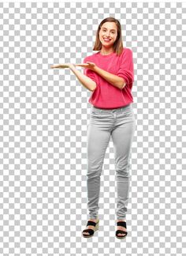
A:
<svg viewBox="0 0 186 256">
<path fill-rule="evenodd" d="M 99 51 L 84 58 L 84 64 L 59 64 L 52 68 L 69 68 L 92 94 L 88 102 L 91 119 L 87 130 L 87 206 L 89 220 L 82 234 L 91 237 L 99 229 L 100 175 L 110 136 L 113 140 L 117 177 L 117 231 L 123 239 L 128 234 L 126 212 L 130 183 L 129 161 L 136 123 L 132 109 L 134 81 L 132 51 L 124 48 L 121 24 L 113 17 L 104 19 L 96 33 Z M 76 70 L 84 67 L 84 74 Z"/>
</svg>

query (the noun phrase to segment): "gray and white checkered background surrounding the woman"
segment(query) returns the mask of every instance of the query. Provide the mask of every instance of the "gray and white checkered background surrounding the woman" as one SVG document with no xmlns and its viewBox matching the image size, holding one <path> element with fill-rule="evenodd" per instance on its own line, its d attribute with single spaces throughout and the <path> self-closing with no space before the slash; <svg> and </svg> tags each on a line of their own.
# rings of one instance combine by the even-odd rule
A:
<svg viewBox="0 0 186 256">
<path fill-rule="evenodd" d="M 185 255 L 185 13 L 185 2 L 0 3 L 1 255 Z M 91 55 L 105 17 L 121 21 L 135 67 L 125 240 L 115 238 L 112 141 L 99 232 L 81 236 L 91 92 L 50 69 Z"/>
</svg>

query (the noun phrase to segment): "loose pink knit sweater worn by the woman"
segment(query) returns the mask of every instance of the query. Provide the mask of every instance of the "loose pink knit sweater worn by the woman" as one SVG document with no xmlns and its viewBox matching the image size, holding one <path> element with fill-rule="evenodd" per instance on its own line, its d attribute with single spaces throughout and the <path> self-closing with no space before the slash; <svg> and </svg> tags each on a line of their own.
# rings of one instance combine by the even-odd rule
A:
<svg viewBox="0 0 186 256">
<path fill-rule="evenodd" d="M 131 92 L 134 81 L 132 50 L 124 48 L 120 56 L 117 56 L 115 52 L 110 55 L 101 55 L 97 52 L 84 58 L 84 62 L 94 62 L 100 69 L 123 77 L 126 81 L 125 87 L 119 89 L 103 79 L 98 73 L 84 68 L 84 74 L 95 81 L 97 85 L 88 100 L 90 104 L 95 107 L 111 109 L 124 107 L 133 102 Z"/>
</svg>

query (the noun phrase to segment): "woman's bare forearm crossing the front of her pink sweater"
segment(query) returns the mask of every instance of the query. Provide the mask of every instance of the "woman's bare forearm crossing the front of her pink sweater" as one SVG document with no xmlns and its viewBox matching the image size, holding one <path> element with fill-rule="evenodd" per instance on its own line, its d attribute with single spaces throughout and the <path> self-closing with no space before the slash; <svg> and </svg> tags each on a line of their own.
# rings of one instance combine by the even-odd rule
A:
<svg viewBox="0 0 186 256">
<path fill-rule="evenodd" d="M 107 72 L 106 70 L 102 70 L 99 68 L 99 66 L 96 66 L 94 71 L 98 73 L 106 81 L 108 81 L 111 85 L 120 89 L 125 87 L 126 81 L 124 78 L 118 77 L 113 73 Z"/>
</svg>

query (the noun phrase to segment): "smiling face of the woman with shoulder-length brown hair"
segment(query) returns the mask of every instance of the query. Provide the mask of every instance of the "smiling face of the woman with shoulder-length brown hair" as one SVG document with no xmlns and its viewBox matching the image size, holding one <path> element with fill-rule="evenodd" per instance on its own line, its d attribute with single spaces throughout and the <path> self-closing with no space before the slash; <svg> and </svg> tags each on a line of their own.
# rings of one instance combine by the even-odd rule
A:
<svg viewBox="0 0 186 256">
<path fill-rule="evenodd" d="M 107 40 L 106 40 L 107 39 Z M 117 39 L 117 25 L 114 22 L 105 22 L 99 30 L 99 40 L 102 47 L 107 49 L 113 47 L 113 43 Z"/>
</svg>

